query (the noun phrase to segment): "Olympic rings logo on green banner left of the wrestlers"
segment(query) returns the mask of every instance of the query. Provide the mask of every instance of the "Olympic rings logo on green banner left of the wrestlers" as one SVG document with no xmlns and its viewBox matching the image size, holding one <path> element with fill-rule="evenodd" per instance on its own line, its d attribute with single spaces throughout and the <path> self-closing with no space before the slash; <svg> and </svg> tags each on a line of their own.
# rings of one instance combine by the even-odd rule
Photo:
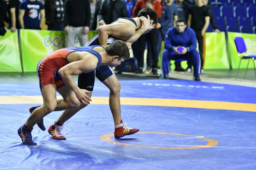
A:
<svg viewBox="0 0 256 170">
<path fill-rule="evenodd" d="M 44 46 L 48 49 L 48 53 L 52 53 L 58 49 L 65 47 L 65 38 L 54 37 L 46 37 L 44 39 Z"/>
</svg>

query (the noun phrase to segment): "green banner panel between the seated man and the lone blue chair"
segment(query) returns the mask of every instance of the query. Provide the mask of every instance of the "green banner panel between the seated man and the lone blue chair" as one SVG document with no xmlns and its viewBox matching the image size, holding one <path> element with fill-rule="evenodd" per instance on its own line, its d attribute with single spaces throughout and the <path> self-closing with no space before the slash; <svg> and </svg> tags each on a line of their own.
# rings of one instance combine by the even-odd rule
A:
<svg viewBox="0 0 256 170">
<path fill-rule="evenodd" d="M 230 68 L 227 57 L 225 33 L 206 33 L 205 35 L 205 69 Z"/>
</svg>

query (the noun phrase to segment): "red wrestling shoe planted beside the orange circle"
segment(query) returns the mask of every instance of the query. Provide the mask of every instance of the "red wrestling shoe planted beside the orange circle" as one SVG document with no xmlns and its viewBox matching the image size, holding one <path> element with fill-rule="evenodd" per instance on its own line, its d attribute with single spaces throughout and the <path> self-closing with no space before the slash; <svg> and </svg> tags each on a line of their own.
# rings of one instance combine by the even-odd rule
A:
<svg viewBox="0 0 256 170">
<path fill-rule="evenodd" d="M 139 129 L 137 128 L 129 128 L 128 126 L 126 126 L 126 122 L 122 122 L 121 120 L 121 124 L 119 125 L 115 125 L 115 138 L 122 138 L 126 135 L 132 135 L 134 133 L 137 133 L 139 131 Z"/>
</svg>

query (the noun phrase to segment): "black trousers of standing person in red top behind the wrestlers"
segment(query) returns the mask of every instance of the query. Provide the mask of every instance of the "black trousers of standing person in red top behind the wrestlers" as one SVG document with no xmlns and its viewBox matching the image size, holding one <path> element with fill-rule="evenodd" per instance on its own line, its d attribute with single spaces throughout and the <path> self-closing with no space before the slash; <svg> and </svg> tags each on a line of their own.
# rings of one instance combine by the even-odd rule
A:
<svg viewBox="0 0 256 170">
<path fill-rule="evenodd" d="M 137 40 L 137 44 L 140 46 L 137 49 L 137 53 L 135 56 L 138 59 L 138 66 L 140 69 L 143 68 L 144 65 L 144 51 L 145 51 L 145 45 L 146 42 L 149 43 L 150 51 L 151 51 L 151 57 L 152 57 L 152 68 L 157 69 L 157 62 L 158 62 L 158 56 L 157 56 L 157 29 L 152 29 L 149 31 L 148 34 L 143 34 L 140 36 L 140 38 Z"/>
</svg>

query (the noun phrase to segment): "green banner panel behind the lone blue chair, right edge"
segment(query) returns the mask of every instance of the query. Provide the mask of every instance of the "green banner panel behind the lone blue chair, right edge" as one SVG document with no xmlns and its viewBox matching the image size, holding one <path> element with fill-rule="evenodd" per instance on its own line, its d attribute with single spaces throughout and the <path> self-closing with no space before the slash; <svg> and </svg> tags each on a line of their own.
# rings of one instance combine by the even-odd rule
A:
<svg viewBox="0 0 256 170">
<path fill-rule="evenodd" d="M 236 32 L 228 32 L 228 54 L 230 59 L 230 65 L 232 68 L 238 68 L 240 57 L 238 56 L 238 52 L 236 49 L 235 38 L 243 37 L 245 41 L 245 45 L 247 47 L 247 55 L 256 55 L 256 35 L 255 34 L 245 34 L 245 33 L 236 33 Z M 241 56 L 245 55 L 242 54 Z M 247 59 L 243 59 L 241 61 L 240 68 L 247 68 Z M 249 67 L 253 68 L 253 61 L 250 61 Z"/>
</svg>

